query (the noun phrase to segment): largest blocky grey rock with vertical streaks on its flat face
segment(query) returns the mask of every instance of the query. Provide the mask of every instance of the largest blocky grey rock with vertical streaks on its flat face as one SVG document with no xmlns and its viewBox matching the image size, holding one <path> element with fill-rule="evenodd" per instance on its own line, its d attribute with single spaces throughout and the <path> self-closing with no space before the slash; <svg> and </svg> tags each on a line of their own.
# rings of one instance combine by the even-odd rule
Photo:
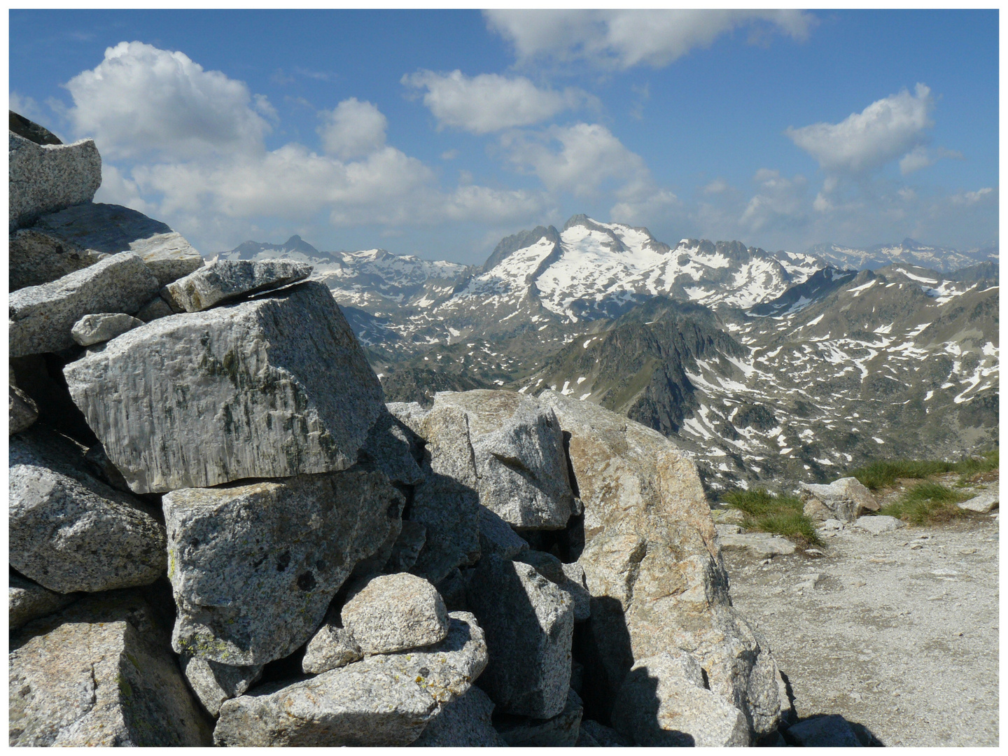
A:
<svg viewBox="0 0 1008 756">
<path fill-rule="evenodd" d="M 382 408 L 350 326 L 313 281 L 154 321 L 64 375 L 137 493 L 346 469 Z"/>
</svg>

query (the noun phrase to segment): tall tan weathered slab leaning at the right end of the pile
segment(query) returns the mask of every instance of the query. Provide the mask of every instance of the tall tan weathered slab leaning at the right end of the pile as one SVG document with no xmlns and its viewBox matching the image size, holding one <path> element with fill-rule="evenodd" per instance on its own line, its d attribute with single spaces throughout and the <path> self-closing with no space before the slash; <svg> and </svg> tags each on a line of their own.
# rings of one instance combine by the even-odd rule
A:
<svg viewBox="0 0 1008 756">
<path fill-rule="evenodd" d="M 579 635 L 586 715 L 607 718 L 634 659 L 691 653 L 711 690 L 758 733 L 780 713 L 773 657 L 731 606 L 710 507 L 694 464 L 665 436 L 590 402 L 539 395 L 571 433 L 585 506 L 592 615 Z"/>
</svg>

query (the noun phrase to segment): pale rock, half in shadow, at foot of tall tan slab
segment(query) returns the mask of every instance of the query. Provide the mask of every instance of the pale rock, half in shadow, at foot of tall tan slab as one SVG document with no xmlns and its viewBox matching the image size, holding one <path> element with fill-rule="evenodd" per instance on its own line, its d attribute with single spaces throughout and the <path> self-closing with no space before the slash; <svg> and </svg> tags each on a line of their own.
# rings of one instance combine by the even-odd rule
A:
<svg viewBox="0 0 1008 756">
<path fill-rule="evenodd" d="M 748 746 L 745 716 L 704 686 L 701 665 L 675 649 L 637 661 L 613 706 L 613 727 L 638 746 Z"/>
</svg>

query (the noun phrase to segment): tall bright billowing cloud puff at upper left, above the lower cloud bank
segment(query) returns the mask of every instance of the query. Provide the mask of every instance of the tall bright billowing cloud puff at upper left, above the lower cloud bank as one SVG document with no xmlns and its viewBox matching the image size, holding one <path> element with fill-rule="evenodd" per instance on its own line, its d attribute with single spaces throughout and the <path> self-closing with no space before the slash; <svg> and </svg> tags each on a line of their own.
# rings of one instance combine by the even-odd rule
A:
<svg viewBox="0 0 1008 756">
<path fill-rule="evenodd" d="M 244 82 L 204 71 L 183 52 L 120 42 L 66 85 L 76 131 L 94 136 L 103 155 L 171 158 L 261 147 L 275 111 Z M 265 116 L 265 117 L 264 117 Z"/>
</svg>

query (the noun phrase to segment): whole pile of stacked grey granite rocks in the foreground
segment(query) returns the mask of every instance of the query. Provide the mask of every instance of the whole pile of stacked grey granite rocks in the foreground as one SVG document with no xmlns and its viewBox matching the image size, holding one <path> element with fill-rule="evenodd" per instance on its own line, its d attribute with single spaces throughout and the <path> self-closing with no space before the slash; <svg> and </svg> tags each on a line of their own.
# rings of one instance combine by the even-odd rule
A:
<svg viewBox="0 0 1008 756">
<path fill-rule="evenodd" d="M 10 744 L 750 745 L 694 464 L 546 391 L 383 401 L 328 289 L 92 202 L 11 114 Z"/>
</svg>

